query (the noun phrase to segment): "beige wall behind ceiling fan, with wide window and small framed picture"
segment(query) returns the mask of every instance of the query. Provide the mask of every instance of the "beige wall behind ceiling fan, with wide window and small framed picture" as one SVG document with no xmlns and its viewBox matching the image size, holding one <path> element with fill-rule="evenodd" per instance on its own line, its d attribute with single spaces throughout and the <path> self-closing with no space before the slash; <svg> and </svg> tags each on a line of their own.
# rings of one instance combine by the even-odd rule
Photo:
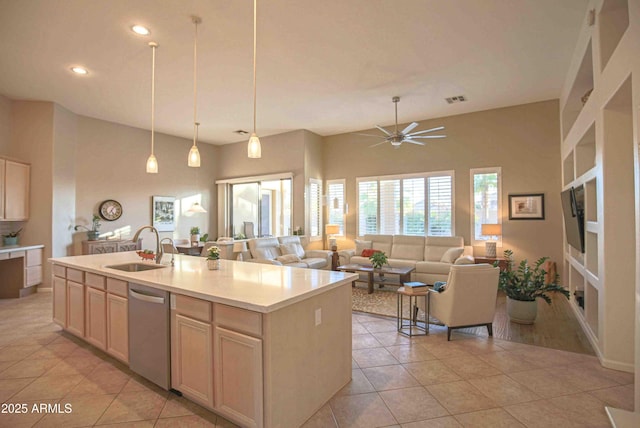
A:
<svg viewBox="0 0 640 428">
<path fill-rule="evenodd" d="M 469 170 L 500 166 L 503 249 L 512 249 L 517 259 L 550 256 L 561 267 L 558 114 L 558 101 L 552 100 L 424 120 L 416 129 L 444 125 L 447 138 L 428 140 L 425 146 L 403 144 L 399 149 L 390 145 L 369 148 L 378 140 L 352 133 L 326 137 L 324 178 L 347 180 L 349 241 L 356 233 L 356 177 L 454 170 L 455 234 L 463 236 L 469 245 Z M 375 129 L 365 132 L 380 133 Z M 509 221 L 510 193 L 544 193 L 545 220 Z M 347 248 L 353 243 L 338 242 L 338 245 Z M 475 254 L 484 254 L 484 247 L 476 247 Z"/>
</svg>

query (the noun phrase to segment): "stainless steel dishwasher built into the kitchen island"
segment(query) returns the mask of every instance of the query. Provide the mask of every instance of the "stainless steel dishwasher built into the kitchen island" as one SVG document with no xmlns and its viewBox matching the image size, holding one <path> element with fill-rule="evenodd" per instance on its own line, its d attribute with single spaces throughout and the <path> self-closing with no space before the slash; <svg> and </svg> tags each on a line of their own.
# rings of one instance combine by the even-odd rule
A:
<svg viewBox="0 0 640 428">
<path fill-rule="evenodd" d="M 169 292 L 129 283 L 129 368 L 171 387 Z"/>
</svg>

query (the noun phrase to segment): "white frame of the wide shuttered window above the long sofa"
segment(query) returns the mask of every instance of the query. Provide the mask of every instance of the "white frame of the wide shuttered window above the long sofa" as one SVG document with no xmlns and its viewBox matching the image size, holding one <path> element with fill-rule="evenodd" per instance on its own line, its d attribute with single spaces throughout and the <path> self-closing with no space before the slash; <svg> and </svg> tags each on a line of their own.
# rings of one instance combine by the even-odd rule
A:
<svg viewBox="0 0 640 428">
<path fill-rule="evenodd" d="M 455 186 L 455 170 L 444 170 L 444 171 L 431 171 L 431 172 L 420 172 L 420 173 L 409 173 L 409 174 L 393 174 L 393 175 L 380 175 L 380 176 L 372 176 L 372 177 L 356 177 L 356 236 L 358 238 L 362 238 L 364 235 L 361 234 L 360 231 L 360 183 L 367 181 L 376 181 L 377 185 L 377 213 L 376 213 L 376 229 L 377 233 L 380 231 L 380 181 L 385 180 L 399 180 L 400 181 L 400 226 L 399 230 L 402 233 L 404 227 L 404 211 L 403 211 L 403 203 L 402 199 L 404 198 L 404 187 L 403 180 L 411 179 L 411 178 L 424 178 L 424 195 L 425 195 L 425 224 L 424 224 L 424 235 L 411 235 L 411 236 L 442 236 L 442 235 L 429 235 L 429 178 L 431 177 L 451 177 L 451 236 L 456 236 L 456 186 Z"/>
</svg>

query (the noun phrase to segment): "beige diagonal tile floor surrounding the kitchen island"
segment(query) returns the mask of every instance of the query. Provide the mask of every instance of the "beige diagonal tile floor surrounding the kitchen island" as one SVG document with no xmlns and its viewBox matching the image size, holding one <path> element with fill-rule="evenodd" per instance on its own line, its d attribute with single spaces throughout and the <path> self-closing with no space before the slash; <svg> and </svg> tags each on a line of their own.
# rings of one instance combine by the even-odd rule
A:
<svg viewBox="0 0 640 428">
<path fill-rule="evenodd" d="M 609 427 L 633 409 L 633 375 L 593 356 L 454 333 L 406 338 L 395 320 L 354 313 L 352 381 L 311 427 Z M 0 427 L 233 427 L 163 391 L 51 321 L 51 294 L 0 300 Z M 67 414 L 34 412 L 58 403 Z"/>
</svg>

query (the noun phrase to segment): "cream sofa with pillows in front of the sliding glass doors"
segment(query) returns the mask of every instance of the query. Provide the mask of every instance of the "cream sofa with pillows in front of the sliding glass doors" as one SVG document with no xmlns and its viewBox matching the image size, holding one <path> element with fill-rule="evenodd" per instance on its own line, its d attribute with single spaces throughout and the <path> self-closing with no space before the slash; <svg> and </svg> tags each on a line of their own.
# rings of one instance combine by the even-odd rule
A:
<svg viewBox="0 0 640 428">
<path fill-rule="evenodd" d="M 307 250 L 304 244 L 299 236 L 249 239 L 251 258 L 247 261 L 311 269 L 331 267 L 331 251 Z"/>
</svg>

